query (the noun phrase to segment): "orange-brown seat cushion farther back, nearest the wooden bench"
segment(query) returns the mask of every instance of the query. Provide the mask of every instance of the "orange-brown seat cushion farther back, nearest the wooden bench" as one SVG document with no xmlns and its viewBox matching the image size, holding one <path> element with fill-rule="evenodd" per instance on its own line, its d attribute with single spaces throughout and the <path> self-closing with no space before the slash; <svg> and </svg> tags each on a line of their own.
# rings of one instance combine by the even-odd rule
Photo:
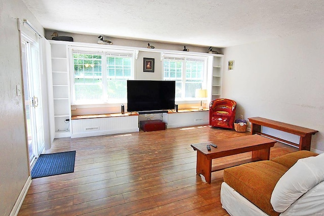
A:
<svg viewBox="0 0 324 216">
<path fill-rule="evenodd" d="M 302 151 L 288 153 L 288 154 L 285 154 L 285 155 L 282 155 L 279 157 L 275 157 L 275 158 L 272 158 L 271 160 L 290 168 L 297 162 L 297 160 L 299 160 L 301 158 L 305 158 L 305 157 L 316 156 L 316 155 L 318 155 L 318 154 L 316 154 L 314 152 L 302 150 Z"/>
</svg>

